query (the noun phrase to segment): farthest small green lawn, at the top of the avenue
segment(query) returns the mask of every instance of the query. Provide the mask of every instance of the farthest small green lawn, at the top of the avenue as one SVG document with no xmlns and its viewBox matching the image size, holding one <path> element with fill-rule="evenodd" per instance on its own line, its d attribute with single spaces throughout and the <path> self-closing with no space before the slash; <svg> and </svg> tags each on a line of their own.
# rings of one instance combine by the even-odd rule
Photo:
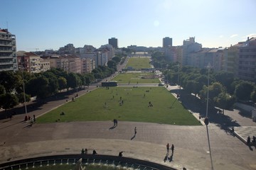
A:
<svg viewBox="0 0 256 170">
<path fill-rule="evenodd" d="M 130 57 L 126 65 L 127 67 L 132 67 L 133 69 L 150 69 L 149 57 Z"/>
</svg>

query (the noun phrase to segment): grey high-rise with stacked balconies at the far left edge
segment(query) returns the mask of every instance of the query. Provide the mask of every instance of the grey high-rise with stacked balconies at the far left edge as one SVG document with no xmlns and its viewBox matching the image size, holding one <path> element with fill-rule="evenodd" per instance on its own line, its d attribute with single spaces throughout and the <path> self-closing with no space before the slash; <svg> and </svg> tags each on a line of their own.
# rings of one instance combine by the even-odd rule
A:
<svg viewBox="0 0 256 170">
<path fill-rule="evenodd" d="M 0 72 L 17 69 L 16 37 L 7 29 L 0 28 Z"/>
</svg>

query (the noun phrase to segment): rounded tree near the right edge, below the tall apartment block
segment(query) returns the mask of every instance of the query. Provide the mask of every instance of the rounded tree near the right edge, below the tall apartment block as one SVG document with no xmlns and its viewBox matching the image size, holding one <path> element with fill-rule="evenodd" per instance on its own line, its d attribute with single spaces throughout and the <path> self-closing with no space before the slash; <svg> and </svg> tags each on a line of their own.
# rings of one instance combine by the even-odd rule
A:
<svg viewBox="0 0 256 170">
<path fill-rule="evenodd" d="M 250 101 L 250 95 L 255 89 L 254 85 L 249 81 L 242 81 L 235 86 L 235 96 L 241 101 Z"/>
</svg>

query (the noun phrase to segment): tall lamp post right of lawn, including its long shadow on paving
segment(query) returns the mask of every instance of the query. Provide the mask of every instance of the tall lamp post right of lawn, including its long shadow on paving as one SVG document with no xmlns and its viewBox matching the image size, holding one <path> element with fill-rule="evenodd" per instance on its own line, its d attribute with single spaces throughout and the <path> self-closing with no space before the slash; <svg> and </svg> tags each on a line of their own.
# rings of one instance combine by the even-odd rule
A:
<svg viewBox="0 0 256 170">
<path fill-rule="evenodd" d="M 211 164 L 211 169 L 213 170 L 213 158 L 212 154 L 210 151 L 210 137 L 209 137 L 209 132 L 208 132 L 208 125 L 209 125 L 209 119 L 208 119 L 208 104 L 209 104 L 209 79 L 210 79 L 210 63 L 206 67 L 208 69 L 208 87 L 207 87 L 207 103 L 206 103 L 206 118 L 204 120 L 204 123 L 206 124 L 206 132 L 207 132 L 207 137 L 208 137 L 208 147 L 209 147 L 209 152 L 210 152 L 210 164 Z"/>
</svg>

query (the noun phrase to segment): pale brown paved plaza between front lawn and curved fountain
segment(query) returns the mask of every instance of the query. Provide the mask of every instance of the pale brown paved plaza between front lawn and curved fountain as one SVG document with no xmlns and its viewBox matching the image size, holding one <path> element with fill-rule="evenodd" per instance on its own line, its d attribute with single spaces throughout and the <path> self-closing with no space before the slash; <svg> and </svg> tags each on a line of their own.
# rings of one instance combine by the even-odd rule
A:
<svg viewBox="0 0 256 170">
<path fill-rule="evenodd" d="M 79 95 L 86 92 L 79 91 Z M 64 103 L 65 99 L 51 101 L 29 114 L 38 116 Z M 238 113 L 233 111 L 233 114 Z M 82 148 L 87 148 L 89 152 L 96 149 L 99 154 L 116 156 L 124 151 L 124 157 L 149 160 L 176 169 L 211 169 L 204 125 L 177 126 L 119 121 L 118 126 L 111 129 L 113 123 L 110 120 L 35 124 L 31 127 L 22 121 L 23 118 L 24 115 L 15 115 L 12 120 L 1 120 L 0 162 L 43 155 L 79 154 Z M 238 119 L 240 124 L 246 121 L 250 119 L 242 116 Z M 252 121 L 250 123 L 250 126 L 255 126 Z M 136 136 L 134 127 L 137 127 Z M 218 124 L 210 123 L 208 129 L 213 169 L 256 169 L 255 147 L 251 150 Z M 175 146 L 171 162 L 169 159 L 164 162 L 167 143 Z"/>
</svg>

